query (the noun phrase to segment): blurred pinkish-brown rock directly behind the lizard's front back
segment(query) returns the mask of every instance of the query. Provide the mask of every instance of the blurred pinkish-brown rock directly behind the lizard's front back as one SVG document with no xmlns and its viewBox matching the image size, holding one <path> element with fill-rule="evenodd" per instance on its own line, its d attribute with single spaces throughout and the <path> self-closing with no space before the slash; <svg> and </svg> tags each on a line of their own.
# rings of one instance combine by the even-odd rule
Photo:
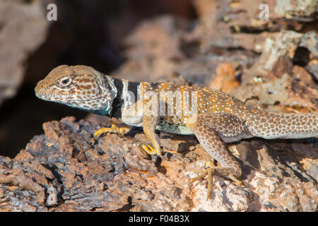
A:
<svg viewBox="0 0 318 226">
<path fill-rule="evenodd" d="M 149 81 L 150 73 L 152 79 L 173 73 L 177 61 L 184 58 L 180 51 L 181 35 L 182 28 L 170 16 L 146 20 L 125 40 L 125 54 L 129 61 L 114 75 L 130 80 L 134 78 L 134 81 Z"/>
</svg>

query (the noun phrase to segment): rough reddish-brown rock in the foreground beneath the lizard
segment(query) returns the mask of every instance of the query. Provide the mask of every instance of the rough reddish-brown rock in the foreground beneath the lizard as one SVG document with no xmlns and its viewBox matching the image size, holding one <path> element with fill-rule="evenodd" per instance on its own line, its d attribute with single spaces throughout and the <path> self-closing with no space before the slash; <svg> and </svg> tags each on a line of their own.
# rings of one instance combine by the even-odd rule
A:
<svg viewBox="0 0 318 226">
<path fill-rule="evenodd" d="M 244 186 L 214 175 L 211 197 L 206 198 L 206 181 L 189 186 L 196 176 L 193 170 L 203 169 L 209 158 L 194 137 L 163 134 L 163 148 L 169 152 L 158 160 L 141 149 L 143 133 L 107 133 L 95 140 L 99 128 L 73 117 L 47 122 L 45 135 L 35 136 L 14 159 L 1 156 L 0 209 L 317 211 L 317 182 L 309 176 L 314 167 L 307 172 L 298 163 L 312 157 L 317 164 L 311 143 L 299 141 L 296 147 L 287 141 L 256 140 L 231 145 L 240 153 L 235 155 Z M 301 150 L 297 157 L 295 148 Z"/>
</svg>

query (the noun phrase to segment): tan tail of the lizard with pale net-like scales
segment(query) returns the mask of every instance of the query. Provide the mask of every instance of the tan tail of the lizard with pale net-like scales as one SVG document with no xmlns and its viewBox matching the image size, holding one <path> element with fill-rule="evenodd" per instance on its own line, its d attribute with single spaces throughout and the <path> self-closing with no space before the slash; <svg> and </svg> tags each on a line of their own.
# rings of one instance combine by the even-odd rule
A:
<svg viewBox="0 0 318 226">
<path fill-rule="evenodd" d="M 318 113 L 267 113 L 249 122 L 254 136 L 266 139 L 309 138 L 318 136 Z"/>
</svg>

